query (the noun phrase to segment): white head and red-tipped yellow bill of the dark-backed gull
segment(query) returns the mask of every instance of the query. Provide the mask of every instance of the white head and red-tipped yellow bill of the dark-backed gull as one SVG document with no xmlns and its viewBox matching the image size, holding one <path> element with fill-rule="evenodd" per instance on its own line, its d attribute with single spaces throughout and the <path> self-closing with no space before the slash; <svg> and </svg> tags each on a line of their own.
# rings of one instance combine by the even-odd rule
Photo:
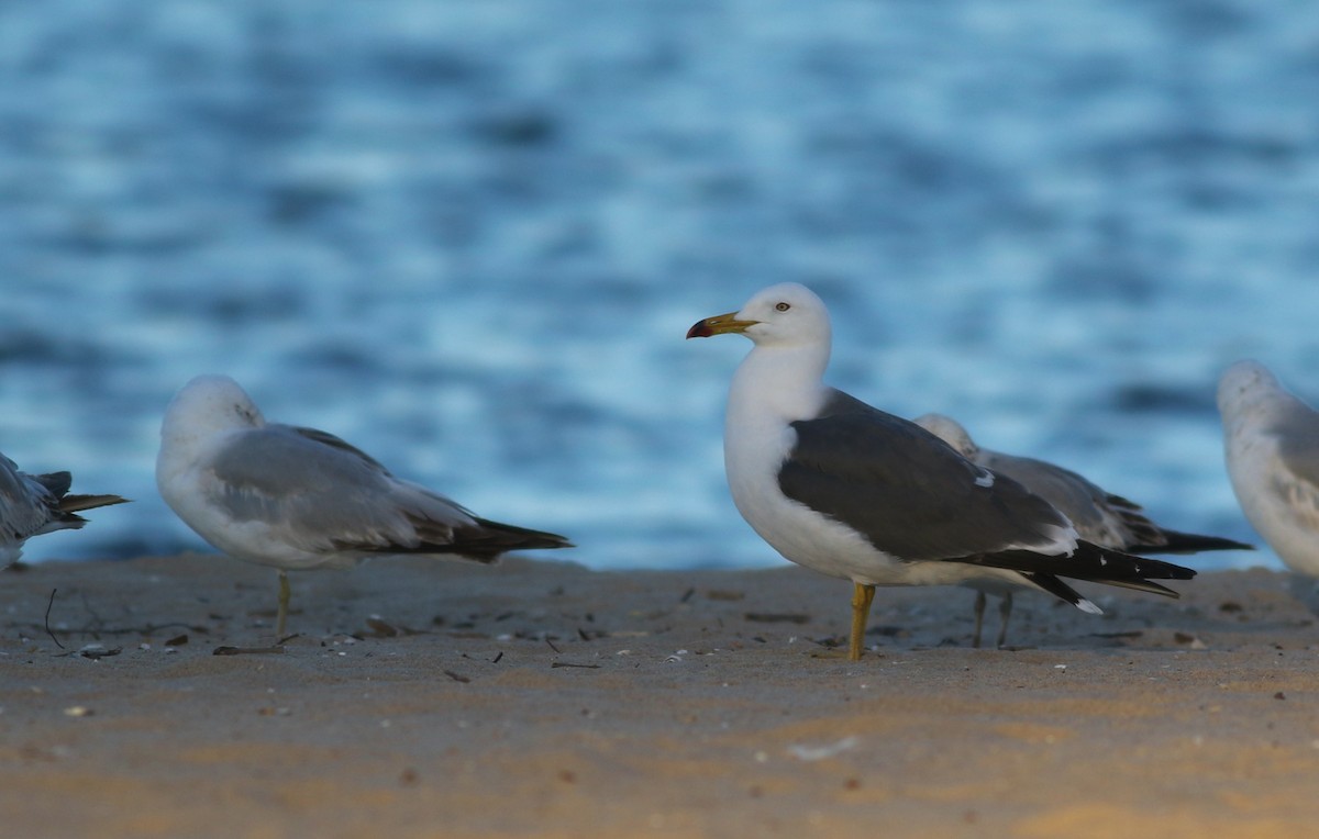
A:
<svg viewBox="0 0 1319 839">
<path fill-rule="evenodd" d="M 687 337 L 724 333 L 745 335 L 757 346 L 828 346 L 832 337 L 824 300 L 801 283 L 762 288 L 741 310 L 698 321 Z"/>
</svg>

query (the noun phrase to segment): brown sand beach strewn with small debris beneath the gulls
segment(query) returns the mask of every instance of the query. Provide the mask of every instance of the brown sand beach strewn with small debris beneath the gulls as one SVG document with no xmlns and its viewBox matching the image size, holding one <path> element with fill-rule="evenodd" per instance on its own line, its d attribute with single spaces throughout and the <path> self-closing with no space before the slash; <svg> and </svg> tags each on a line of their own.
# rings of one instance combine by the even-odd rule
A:
<svg viewBox="0 0 1319 839">
<path fill-rule="evenodd" d="M 967 647 L 971 591 L 881 589 L 860 663 L 819 657 L 849 583 L 797 568 L 291 580 L 299 635 L 226 656 L 277 640 L 273 570 L 0 576 L 0 834 L 1319 830 L 1316 627 L 1286 574 L 1203 574 L 1181 601 L 1087 589 L 1104 618 L 1024 594 L 1004 651 Z"/>
</svg>

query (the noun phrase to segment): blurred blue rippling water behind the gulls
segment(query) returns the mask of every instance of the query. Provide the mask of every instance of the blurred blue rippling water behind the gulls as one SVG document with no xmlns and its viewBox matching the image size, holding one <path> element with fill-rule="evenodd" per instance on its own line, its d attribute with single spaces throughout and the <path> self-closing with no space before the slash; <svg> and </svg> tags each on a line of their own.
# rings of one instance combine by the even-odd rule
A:
<svg viewBox="0 0 1319 839">
<path fill-rule="evenodd" d="M 0 3 L 0 450 L 136 499 L 32 561 L 204 549 L 153 465 L 219 371 L 555 557 L 778 562 L 683 335 L 781 281 L 831 383 L 1254 540 L 1213 389 L 1319 398 L 1319 11 Z"/>
</svg>

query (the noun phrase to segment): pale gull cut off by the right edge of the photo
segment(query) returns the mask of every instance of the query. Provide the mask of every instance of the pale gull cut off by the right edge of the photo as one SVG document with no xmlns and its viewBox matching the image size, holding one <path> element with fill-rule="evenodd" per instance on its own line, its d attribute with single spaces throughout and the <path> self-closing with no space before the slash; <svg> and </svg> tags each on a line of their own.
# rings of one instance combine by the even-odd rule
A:
<svg viewBox="0 0 1319 839">
<path fill-rule="evenodd" d="M 1319 412 L 1257 361 L 1223 373 L 1219 412 L 1246 520 L 1287 568 L 1319 577 Z"/>
</svg>

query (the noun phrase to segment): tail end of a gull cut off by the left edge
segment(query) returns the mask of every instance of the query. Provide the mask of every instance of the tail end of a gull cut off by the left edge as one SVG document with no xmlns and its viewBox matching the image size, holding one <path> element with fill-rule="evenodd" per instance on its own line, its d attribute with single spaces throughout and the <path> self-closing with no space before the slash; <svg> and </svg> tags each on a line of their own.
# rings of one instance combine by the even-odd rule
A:
<svg viewBox="0 0 1319 839">
<path fill-rule="evenodd" d="M 128 502 L 119 495 L 69 495 L 73 479 L 67 472 L 29 475 L 0 454 L 0 568 L 16 562 L 33 536 L 87 524 L 78 512 Z"/>
</svg>

